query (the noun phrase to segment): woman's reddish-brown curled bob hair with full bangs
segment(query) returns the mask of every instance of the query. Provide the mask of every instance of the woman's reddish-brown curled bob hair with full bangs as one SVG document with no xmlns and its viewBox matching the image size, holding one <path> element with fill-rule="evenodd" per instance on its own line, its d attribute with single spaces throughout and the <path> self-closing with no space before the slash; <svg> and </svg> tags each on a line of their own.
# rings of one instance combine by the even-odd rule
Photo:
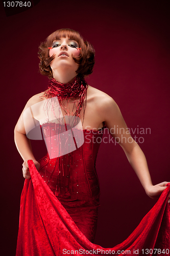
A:
<svg viewBox="0 0 170 256">
<path fill-rule="evenodd" d="M 55 32 L 53 32 L 51 35 L 49 35 L 45 42 L 41 42 L 41 45 L 39 46 L 38 55 L 40 58 L 39 63 L 39 70 L 42 75 L 48 76 L 48 78 L 53 78 L 53 72 L 50 67 L 50 64 L 52 60 L 55 58 L 55 55 L 49 56 L 49 49 L 48 47 L 52 47 L 53 41 L 60 39 L 62 37 L 66 37 L 75 40 L 79 44 L 80 50 L 80 56 L 79 57 L 73 57 L 75 62 L 79 64 L 79 68 L 76 71 L 77 74 L 80 74 L 82 76 L 87 76 L 92 73 L 93 66 L 94 66 L 94 48 L 93 46 L 88 42 L 84 41 L 82 36 L 79 34 L 79 32 L 72 30 L 72 29 L 59 29 Z"/>
</svg>

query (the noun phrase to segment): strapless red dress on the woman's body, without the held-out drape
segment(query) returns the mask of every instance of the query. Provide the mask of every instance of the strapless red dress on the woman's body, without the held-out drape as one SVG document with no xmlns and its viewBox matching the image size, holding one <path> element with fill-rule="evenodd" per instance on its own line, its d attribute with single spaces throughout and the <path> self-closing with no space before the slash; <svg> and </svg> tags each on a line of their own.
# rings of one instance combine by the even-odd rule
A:
<svg viewBox="0 0 170 256">
<path fill-rule="evenodd" d="M 60 157 L 55 156 L 58 155 L 59 143 L 65 135 L 65 126 L 45 123 L 41 128 L 48 153 L 39 161 L 39 173 L 82 233 L 93 242 L 100 206 L 95 161 L 104 127 L 99 131 L 75 129 L 74 136 L 78 139 L 81 139 L 83 132 L 83 145 Z"/>
</svg>

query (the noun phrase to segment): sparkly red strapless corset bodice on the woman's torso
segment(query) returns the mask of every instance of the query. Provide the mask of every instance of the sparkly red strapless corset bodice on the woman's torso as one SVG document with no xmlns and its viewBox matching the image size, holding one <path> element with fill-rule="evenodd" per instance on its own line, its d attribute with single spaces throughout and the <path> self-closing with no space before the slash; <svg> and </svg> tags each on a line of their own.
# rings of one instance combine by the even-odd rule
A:
<svg viewBox="0 0 170 256">
<path fill-rule="evenodd" d="M 74 131 L 75 139 L 73 141 L 72 138 L 72 144 L 76 145 L 78 140 L 82 140 L 82 134 L 84 143 L 71 152 L 68 148 L 60 151 L 62 136 L 68 134 L 64 133 L 63 125 L 60 125 L 59 129 L 58 127 L 59 125 L 55 123 L 41 126 L 48 153 L 39 161 L 40 175 L 58 198 L 85 201 L 98 198 L 100 187 L 95 162 L 105 126 L 98 131 L 79 129 Z M 54 157 L 59 151 L 60 156 Z M 62 155 L 63 152 L 66 154 Z"/>
</svg>

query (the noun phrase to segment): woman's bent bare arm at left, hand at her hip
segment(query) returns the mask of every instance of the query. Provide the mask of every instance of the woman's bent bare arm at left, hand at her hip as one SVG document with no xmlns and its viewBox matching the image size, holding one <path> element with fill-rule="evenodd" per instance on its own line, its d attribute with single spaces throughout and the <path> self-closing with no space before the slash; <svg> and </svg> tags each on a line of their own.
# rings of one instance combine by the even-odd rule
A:
<svg viewBox="0 0 170 256">
<path fill-rule="evenodd" d="M 23 112 L 27 108 L 29 108 L 29 106 L 32 105 L 34 101 L 35 101 L 35 99 L 31 98 L 27 102 L 25 108 L 23 109 L 23 111 L 18 119 L 15 129 L 14 129 L 15 144 L 16 144 L 19 154 L 21 155 L 22 159 L 24 160 L 24 162 L 22 164 L 22 166 L 23 166 L 22 172 L 23 172 L 23 177 L 25 179 L 31 178 L 30 172 L 29 172 L 28 160 L 33 160 L 37 169 L 39 169 L 39 167 L 40 167 L 40 164 L 36 161 L 36 159 L 33 155 L 31 143 L 30 143 L 30 140 L 27 138 L 26 130 L 25 130 L 24 122 L 23 122 Z"/>
</svg>

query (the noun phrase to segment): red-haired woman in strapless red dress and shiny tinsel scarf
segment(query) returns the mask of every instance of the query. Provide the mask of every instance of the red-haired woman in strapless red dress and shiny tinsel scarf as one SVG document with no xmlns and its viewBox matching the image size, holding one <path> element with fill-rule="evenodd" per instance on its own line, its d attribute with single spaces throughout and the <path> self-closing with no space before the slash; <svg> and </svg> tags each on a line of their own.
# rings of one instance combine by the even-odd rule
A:
<svg viewBox="0 0 170 256">
<path fill-rule="evenodd" d="M 27 233 L 25 231 L 26 226 L 28 228 L 29 224 L 24 225 L 21 222 L 24 222 L 23 216 L 27 216 L 28 212 L 26 206 L 28 195 L 31 195 L 29 194 L 30 178 L 35 181 L 35 186 L 33 185 L 35 191 L 35 187 L 39 183 L 36 181 L 37 178 L 34 177 L 34 174 L 30 174 L 33 167 L 29 169 L 32 162 L 28 160 L 33 160 L 42 177 L 40 178 L 41 181 L 43 180 L 53 192 L 52 196 L 46 184 L 42 183 L 47 194 L 50 195 L 52 200 L 58 199 L 60 201 L 69 214 L 68 216 L 63 211 L 64 216 L 69 218 L 69 221 L 72 218 L 78 230 L 91 242 L 94 241 L 96 231 L 100 195 L 95 170 L 95 160 L 100 143 L 94 143 L 93 139 L 99 141 L 97 139 L 102 137 L 104 129 L 107 128 L 111 132 L 113 127 L 117 127 L 114 133 L 111 132 L 111 135 L 123 147 L 130 164 L 149 197 L 158 198 L 167 184 L 167 182 L 157 185 L 152 184 L 144 154 L 131 135 L 125 132 L 127 131 L 127 125 L 117 104 L 110 96 L 87 85 L 84 80 L 85 76 L 92 73 L 94 65 L 94 49 L 89 42 L 84 42 L 80 34 L 74 30 L 60 29 L 48 36 L 39 49 L 40 72 L 47 75 L 51 80 L 45 92 L 34 95 L 27 102 L 15 127 L 15 143 L 24 160 L 22 172 L 28 186 L 27 189 L 25 188 L 22 191 L 17 255 L 26 253 L 26 251 L 28 253 L 29 250 L 28 241 L 22 241 L 22 237 L 26 236 Z M 32 120 L 33 125 L 31 125 Z M 82 136 L 82 133 L 84 136 Z M 44 158 L 37 161 L 27 137 L 38 139 L 41 135 L 45 140 L 48 153 Z M 123 137 L 124 139 L 122 139 Z M 69 140 L 69 138 L 71 139 Z M 34 172 L 36 171 L 34 170 Z M 38 187 L 37 193 L 41 190 L 41 186 Z M 40 193 L 40 197 L 43 193 Z M 37 202 L 38 198 L 39 196 Z M 47 199 L 44 199 L 44 203 L 41 201 L 40 205 L 45 204 L 45 200 Z M 58 204 L 58 201 L 55 202 Z M 170 199 L 168 202 L 170 202 Z M 38 205 L 38 209 L 41 208 L 40 205 Z M 61 205 L 59 204 L 58 207 L 62 207 Z M 41 210 L 39 211 L 41 212 Z M 50 218 L 52 216 L 53 214 Z M 41 216 L 41 218 L 44 218 L 43 225 L 45 225 L 45 218 L 48 219 L 48 217 Z M 60 218 L 62 217 L 60 216 Z M 36 217 L 34 216 L 33 222 L 35 220 Z M 65 220 L 60 219 L 60 221 L 63 224 Z M 49 225 L 47 224 L 47 226 Z M 64 224 L 65 227 L 66 237 L 66 230 L 68 231 L 70 226 L 67 223 Z M 51 228 L 53 229 L 53 227 Z M 31 226 L 31 229 L 37 229 L 35 223 Z M 56 230 L 58 231 L 59 228 Z M 59 230 L 60 233 L 61 230 L 63 229 Z M 75 227 L 69 230 L 69 239 L 72 236 L 72 230 L 75 230 Z M 82 236 L 81 232 L 79 234 Z M 40 234 L 38 236 L 40 237 Z M 83 239 L 85 240 L 84 236 Z M 37 239 L 35 232 L 33 237 Z M 49 239 L 51 241 L 50 232 L 48 232 L 45 241 Z M 78 240 L 76 239 L 76 241 Z M 42 254 L 44 249 L 40 249 L 42 245 L 37 246 L 37 244 L 34 243 L 33 246 L 37 251 L 35 252 L 32 249 L 29 252 L 30 254 L 28 253 L 29 255 Z M 52 245 L 51 249 L 47 249 L 48 255 L 55 255 L 53 254 L 55 250 L 59 253 L 59 248 L 55 247 L 54 249 L 54 247 Z M 50 250 L 53 252 L 50 252 Z"/>
</svg>

